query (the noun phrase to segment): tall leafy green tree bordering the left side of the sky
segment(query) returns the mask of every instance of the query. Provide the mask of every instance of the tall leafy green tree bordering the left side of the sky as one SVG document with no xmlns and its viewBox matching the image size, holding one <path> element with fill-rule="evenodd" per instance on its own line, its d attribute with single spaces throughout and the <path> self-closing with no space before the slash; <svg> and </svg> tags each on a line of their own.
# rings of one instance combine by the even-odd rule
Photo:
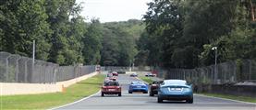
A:
<svg viewBox="0 0 256 110">
<path fill-rule="evenodd" d="M 80 41 L 82 35 L 76 33 L 78 32 L 76 27 L 80 27 L 79 22 L 81 22 L 78 16 L 80 6 L 75 4 L 75 0 L 46 0 L 45 5 L 49 16 L 47 22 L 53 30 L 50 40 L 53 46 L 49 61 L 61 65 L 81 61 L 81 44 L 78 41 Z M 72 18 L 73 21 L 70 21 L 71 16 L 75 17 Z"/>
</svg>

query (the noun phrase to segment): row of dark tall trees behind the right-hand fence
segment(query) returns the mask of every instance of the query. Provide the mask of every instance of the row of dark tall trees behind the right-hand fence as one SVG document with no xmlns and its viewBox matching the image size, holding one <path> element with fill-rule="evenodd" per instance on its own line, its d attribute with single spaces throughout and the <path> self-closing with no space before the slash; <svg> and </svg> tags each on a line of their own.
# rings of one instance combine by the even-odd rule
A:
<svg viewBox="0 0 256 110">
<path fill-rule="evenodd" d="M 153 0 L 137 42 L 138 65 L 195 68 L 256 58 L 255 0 Z"/>
</svg>

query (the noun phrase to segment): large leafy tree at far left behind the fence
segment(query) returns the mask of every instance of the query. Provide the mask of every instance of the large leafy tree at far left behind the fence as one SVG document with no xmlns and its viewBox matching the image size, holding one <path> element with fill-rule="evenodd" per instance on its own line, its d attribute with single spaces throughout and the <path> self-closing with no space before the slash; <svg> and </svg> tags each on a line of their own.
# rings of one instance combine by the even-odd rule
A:
<svg viewBox="0 0 256 110">
<path fill-rule="evenodd" d="M 1 4 L 1 40 L 2 49 L 11 53 L 31 56 L 32 40 L 36 40 L 36 58 L 47 60 L 51 44 L 48 38 L 51 34 L 47 15 L 43 7 L 44 1 L 6 0 Z"/>
</svg>

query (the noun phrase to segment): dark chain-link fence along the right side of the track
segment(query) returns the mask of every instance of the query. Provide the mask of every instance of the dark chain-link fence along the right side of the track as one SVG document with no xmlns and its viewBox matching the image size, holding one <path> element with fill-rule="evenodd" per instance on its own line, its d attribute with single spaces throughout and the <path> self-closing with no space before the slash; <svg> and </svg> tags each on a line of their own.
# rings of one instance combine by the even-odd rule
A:
<svg viewBox="0 0 256 110">
<path fill-rule="evenodd" d="M 216 70 L 216 71 L 215 71 Z M 196 69 L 157 69 L 165 79 L 184 79 L 195 84 L 256 82 L 256 61 L 238 60 Z"/>
</svg>

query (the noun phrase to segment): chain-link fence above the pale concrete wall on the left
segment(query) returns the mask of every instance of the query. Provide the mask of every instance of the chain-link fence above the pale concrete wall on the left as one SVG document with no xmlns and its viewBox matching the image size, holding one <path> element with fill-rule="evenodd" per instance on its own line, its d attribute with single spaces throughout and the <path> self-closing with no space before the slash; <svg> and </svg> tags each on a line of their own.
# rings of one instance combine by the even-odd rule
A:
<svg viewBox="0 0 256 110">
<path fill-rule="evenodd" d="M 55 83 L 95 71 L 96 66 L 59 66 L 0 51 L 0 82 Z"/>
</svg>

